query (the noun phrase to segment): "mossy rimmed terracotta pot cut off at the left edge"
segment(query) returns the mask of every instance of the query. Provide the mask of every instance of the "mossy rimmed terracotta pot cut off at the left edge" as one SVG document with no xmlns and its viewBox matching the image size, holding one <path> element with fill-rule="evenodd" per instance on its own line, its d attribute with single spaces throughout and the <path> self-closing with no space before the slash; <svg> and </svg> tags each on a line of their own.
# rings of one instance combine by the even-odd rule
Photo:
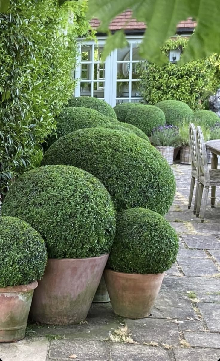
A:
<svg viewBox="0 0 220 361">
<path fill-rule="evenodd" d="M 0 288 L 0 342 L 25 337 L 27 317 L 37 281 L 27 285 Z"/>
</svg>

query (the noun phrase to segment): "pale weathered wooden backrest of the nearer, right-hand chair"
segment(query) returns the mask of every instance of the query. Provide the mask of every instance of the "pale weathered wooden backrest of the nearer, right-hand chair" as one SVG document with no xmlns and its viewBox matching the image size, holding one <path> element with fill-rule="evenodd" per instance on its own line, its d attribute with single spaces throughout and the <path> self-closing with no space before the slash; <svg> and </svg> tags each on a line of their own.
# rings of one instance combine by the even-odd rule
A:
<svg viewBox="0 0 220 361">
<path fill-rule="evenodd" d="M 202 129 L 199 126 L 196 127 L 196 153 L 198 160 L 199 177 L 204 177 L 205 182 L 208 183 L 210 182 L 210 174 L 208 170 L 206 145 L 202 134 Z"/>
</svg>

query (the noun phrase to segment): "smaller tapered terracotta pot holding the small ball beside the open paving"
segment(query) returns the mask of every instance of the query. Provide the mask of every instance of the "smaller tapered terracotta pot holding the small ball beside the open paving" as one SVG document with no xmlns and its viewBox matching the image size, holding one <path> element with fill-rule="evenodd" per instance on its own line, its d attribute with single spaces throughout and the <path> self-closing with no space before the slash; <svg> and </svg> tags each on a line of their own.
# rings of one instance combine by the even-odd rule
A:
<svg viewBox="0 0 220 361">
<path fill-rule="evenodd" d="M 104 276 L 116 314 L 127 318 L 144 318 L 150 315 L 164 273 L 145 275 L 105 270 Z"/>
</svg>

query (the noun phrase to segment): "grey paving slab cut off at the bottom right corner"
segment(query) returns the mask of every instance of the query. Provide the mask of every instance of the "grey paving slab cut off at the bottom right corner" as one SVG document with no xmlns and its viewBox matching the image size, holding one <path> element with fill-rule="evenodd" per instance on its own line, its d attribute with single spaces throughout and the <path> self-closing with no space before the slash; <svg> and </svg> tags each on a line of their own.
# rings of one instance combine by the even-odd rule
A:
<svg viewBox="0 0 220 361">
<path fill-rule="evenodd" d="M 219 361 L 220 349 L 175 349 L 176 361 Z"/>
</svg>

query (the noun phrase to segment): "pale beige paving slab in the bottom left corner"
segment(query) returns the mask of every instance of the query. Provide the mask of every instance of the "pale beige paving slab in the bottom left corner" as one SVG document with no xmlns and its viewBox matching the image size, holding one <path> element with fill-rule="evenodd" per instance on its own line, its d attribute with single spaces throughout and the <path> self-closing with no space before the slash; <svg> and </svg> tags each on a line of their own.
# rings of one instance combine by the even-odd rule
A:
<svg viewBox="0 0 220 361">
<path fill-rule="evenodd" d="M 3 361 L 45 361 L 47 346 L 48 341 L 45 338 L 0 343 L 0 358 Z"/>
</svg>

